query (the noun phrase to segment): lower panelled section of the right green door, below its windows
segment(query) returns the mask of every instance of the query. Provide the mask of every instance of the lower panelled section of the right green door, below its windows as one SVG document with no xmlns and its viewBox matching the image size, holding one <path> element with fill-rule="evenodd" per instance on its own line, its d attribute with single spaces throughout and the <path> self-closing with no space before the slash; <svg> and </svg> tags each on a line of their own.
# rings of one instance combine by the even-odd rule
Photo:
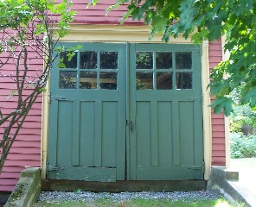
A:
<svg viewBox="0 0 256 207">
<path fill-rule="evenodd" d="M 195 130 L 195 103 L 152 103 L 137 103 L 137 179 L 202 179 L 202 131 Z"/>
</svg>

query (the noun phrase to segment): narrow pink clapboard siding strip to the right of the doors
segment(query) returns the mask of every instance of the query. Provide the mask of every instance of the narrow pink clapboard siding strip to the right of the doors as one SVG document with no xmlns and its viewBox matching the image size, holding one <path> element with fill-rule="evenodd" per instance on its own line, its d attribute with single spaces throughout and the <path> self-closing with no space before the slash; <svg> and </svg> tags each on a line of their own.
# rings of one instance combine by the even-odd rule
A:
<svg viewBox="0 0 256 207">
<path fill-rule="evenodd" d="M 209 43 L 209 66 L 210 70 L 222 60 L 221 41 Z M 212 101 L 214 98 L 212 98 Z M 212 165 L 225 166 L 225 122 L 223 114 L 214 114 L 212 111 Z"/>
</svg>

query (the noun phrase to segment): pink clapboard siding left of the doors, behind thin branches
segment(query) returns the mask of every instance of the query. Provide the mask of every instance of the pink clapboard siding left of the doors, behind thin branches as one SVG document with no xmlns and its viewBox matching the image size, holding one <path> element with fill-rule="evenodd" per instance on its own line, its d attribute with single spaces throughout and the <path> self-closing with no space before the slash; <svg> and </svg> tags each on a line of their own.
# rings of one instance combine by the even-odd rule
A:
<svg viewBox="0 0 256 207">
<path fill-rule="evenodd" d="M 40 75 L 42 71 L 42 59 L 35 58 L 35 52 L 29 51 L 29 80 Z M 1 54 L 1 60 L 5 60 L 6 53 Z M 17 97 L 10 97 L 16 89 L 15 67 L 12 61 L 1 68 L 0 76 L 0 109 L 3 115 L 9 114 L 16 109 Z M 31 89 L 24 91 L 28 96 Z M 5 124 L 8 124 L 6 122 Z M 10 149 L 3 172 L 0 175 L 0 191 L 13 191 L 21 171 L 27 166 L 40 166 L 41 160 L 41 128 L 42 128 L 42 96 L 38 97 L 32 109 L 29 111 L 26 122 L 23 123 L 20 134 Z M 3 127 L 0 128 L 0 138 L 3 135 Z"/>
</svg>

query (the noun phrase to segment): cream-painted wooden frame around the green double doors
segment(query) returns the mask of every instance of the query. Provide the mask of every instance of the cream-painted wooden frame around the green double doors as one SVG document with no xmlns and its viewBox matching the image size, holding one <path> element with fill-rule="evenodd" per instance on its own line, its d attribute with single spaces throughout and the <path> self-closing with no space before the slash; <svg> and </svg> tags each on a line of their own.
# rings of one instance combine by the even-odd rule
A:
<svg viewBox="0 0 256 207">
<path fill-rule="evenodd" d="M 70 33 L 63 38 L 64 42 L 102 42 L 102 43 L 163 43 L 162 35 L 156 34 L 149 42 L 149 27 L 147 26 L 113 26 L 113 25 L 74 25 L 70 28 Z M 176 39 L 170 38 L 171 44 L 192 43 L 178 37 Z M 129 52 L 129 44 L 126 45 L 126 53 Z M 202 43 L 202 113 L 203 113 L 203 150 L 205 161 L 204 179 L 208 179 L 211 166 L 211 109 L 209 91 L 207 89 L 209 83 L 209 63 L 208 63 L 208 41 Z M 126 62 L 129 67 L 129 61 Z M 128 72 L 128 70 L 126 70 Z M 130 81 L 129 78 L 126 78 Z M 47 173 L 47 154 L 48 154 L 48 91 L 50 89 L 50 81 L 48 81 L 47 90 L 42 95 L 42 179 L 46 179 Z M 126 83 L 127 84 L 127 83 Z M 128 97 L 129 91 L 126 96 Z M 129 111 L 129 103 L 126 102 L 127 111 Z M 128 113 L 128 112 L 126 112 Z M 126 114 L 127 116 L 127 114 Z M 128 130 L 126 133 L 129 133 Z M 126 139 L 126 144 L 127 144 Z M 127 147 L 129 147 L 127 145 Z M 129 160 L 127 160 L 129 161 Z"/>
</svg>

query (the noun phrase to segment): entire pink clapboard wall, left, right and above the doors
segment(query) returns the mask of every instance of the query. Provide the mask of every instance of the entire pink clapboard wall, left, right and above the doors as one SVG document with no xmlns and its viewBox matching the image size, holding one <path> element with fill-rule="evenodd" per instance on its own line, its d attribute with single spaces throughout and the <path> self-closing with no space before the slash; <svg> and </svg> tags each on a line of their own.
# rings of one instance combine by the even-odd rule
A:
<svg viewBox="0 0 256 207">
<path fill-rule="evenodd" d="M 59 0 L 61 1 L 61 0 Z M 126 10 L 126 6 L 121 6 L 117 10 L 112 10 L 107 16 L 105 10 L 115 3 L 114 0 L 101 0 L 95 7 L 86 9 L 86 3 L 89 0 L 74 0 L 73 9 L 77 10 L 75 24 L 119 24 L 119 20 Z M 128 19 L 126 24 L 138 24 Z M 33 56 L 33 53 L 31 53 Z M 3 58 L 3 57 L 0 57 Z M 221 43 L 214 41 L 209 44 L 210 68 L 213 68 L 221 61 Z M 36 76 L 36 71 L 42 69 L 42 60 L 32 59 L 31 75 Z M 1 72 L 10 74 L 13 72 L 13 65 L 1 68 Z M 14 88 L 14 82 L 10 78 L 1 78 L 0 76 L 0 108 L 9 113 L 14 109 L 15 101 L 8 99 L 11 90 Z M 28 91 L 29 92 L 29 91 Z M 19 179 L 20 172 L 25 166 L 40 166 L 41 159 L 41 124 L 42 124 L 42 97 L 38 98 L 29 112 L 27 122 L 23 125 L 20 135 L 17 137 L 14 146 L 0 175 L 0 191 L 12 191 Z M 213 129 L 213 165 L 225 165 L 225 139 L 224 139 L 224 118 L 223 115 L 212 115 Z M 2 131 L 1 131 L 2 130 Z M 3 129 L 0 129 L 0 137 Z"/>
</svg>

